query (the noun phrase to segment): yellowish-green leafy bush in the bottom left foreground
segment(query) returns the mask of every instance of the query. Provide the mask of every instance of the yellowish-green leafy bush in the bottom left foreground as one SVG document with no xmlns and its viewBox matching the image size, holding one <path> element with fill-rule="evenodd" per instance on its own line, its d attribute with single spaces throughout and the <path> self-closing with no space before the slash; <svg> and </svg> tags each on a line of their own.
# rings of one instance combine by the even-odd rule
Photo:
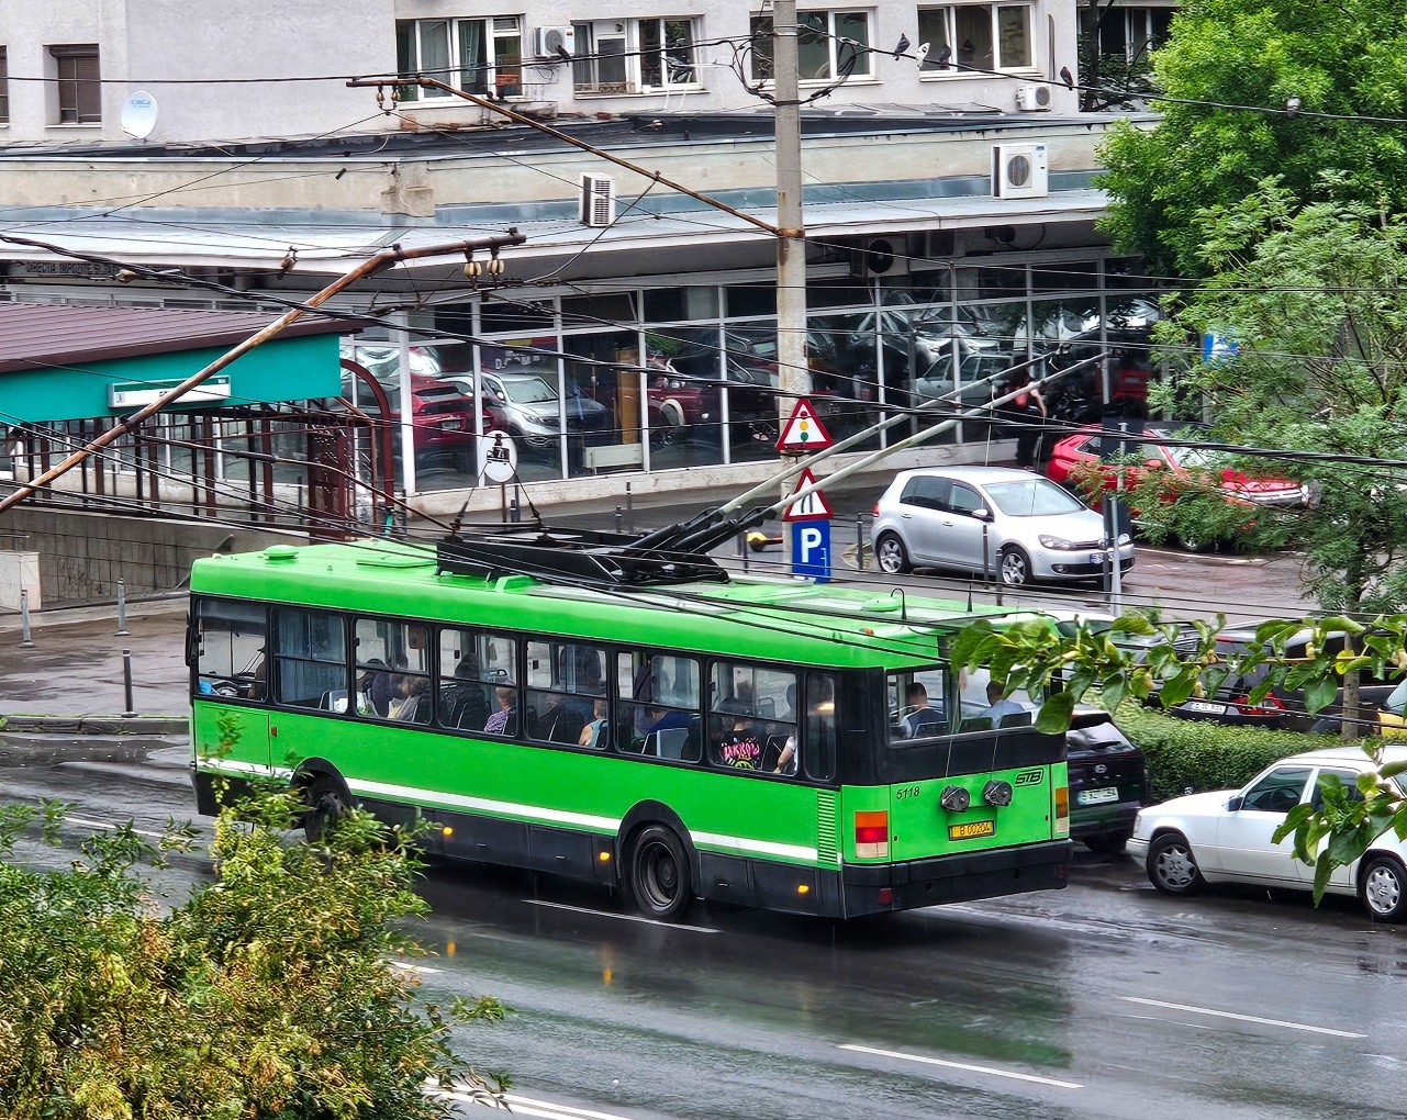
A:
<svg viewBox="0 0 1407 1120">
<path fill-rule="evenodd" d="M 163 910 L 142 878 L 193 830 L 148 844 L 128 825 L 58 871 L 14 863 L 63 806 L 0 810 L 0 1113 L 11 1120 L 405 1120 L 443 1117 L 428 1085 L 488 1099 L 505 1085 L 452 1054 L 449 1030 L 491 999 L 418 998 L 401 924 L 425 903 L 409 837 L 352 812 L 318 844 L 297 806 L 260 799 L 215 825 L 217 881 Z"/>
</svg>

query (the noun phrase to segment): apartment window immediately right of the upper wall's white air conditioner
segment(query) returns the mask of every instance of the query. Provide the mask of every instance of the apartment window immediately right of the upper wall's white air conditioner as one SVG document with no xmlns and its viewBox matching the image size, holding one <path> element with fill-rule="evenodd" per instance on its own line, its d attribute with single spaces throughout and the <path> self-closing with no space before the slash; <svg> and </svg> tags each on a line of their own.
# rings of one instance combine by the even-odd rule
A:
<svg viewBox="0 0 1407 1120">
<path fill-rule="evenodd" d="M 644 93 L 698 84 L 696 20 L 574 24 L 577 93 Z"/>
</svg>

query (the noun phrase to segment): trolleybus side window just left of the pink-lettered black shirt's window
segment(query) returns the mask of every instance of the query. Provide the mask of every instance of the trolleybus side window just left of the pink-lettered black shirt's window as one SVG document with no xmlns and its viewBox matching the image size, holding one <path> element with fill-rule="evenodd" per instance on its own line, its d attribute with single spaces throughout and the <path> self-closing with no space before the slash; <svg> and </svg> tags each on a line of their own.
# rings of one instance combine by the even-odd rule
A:
<svg viewBox="0 0 1407 1120">
<path fill-rule="evenodd" d="M 696 763 L 704 757 L 699 663 L 650 650 L 616 654 L 620 732 L 612 742 L 651 758 Z M 628 699 L 629 698 L 629 699 Z"/>
</svg>

